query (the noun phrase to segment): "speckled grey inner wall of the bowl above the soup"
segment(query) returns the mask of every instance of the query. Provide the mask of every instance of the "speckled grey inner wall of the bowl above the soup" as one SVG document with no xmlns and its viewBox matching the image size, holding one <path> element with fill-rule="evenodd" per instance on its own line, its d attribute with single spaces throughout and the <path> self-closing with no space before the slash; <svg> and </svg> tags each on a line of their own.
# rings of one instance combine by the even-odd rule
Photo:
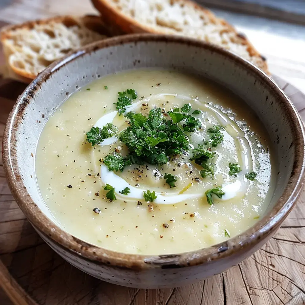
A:
<svg viewBox="0 0 305 305">
<path fill-rule="evenodd" d="M 9 153 L 14 171 L 19 171 L 28 194 L 41 211 L 56 223 L 41 198 L 34 167 L 37 141 L 48 117 L 74 91 L 96 78 L 142 67 L 177 69 L 210 78 L 239 95 L 253 109 L 269 133 L 277 157 L 278 175 L 270 211 L 295 174 L 294 163 L 302 163 L 296 161 L 296 143 L 303 143 L 302 132 L 296 132 L 298 126 L 303 128 L 298 115 L 289 101 L 283 102 L 285 96 L 280 89 L 252 64 L 203 43 L 164 37 L 98 42 L 87 52 L 80 50 L 53 64 L 26 89 L 12 114 Z"/>
</svg>

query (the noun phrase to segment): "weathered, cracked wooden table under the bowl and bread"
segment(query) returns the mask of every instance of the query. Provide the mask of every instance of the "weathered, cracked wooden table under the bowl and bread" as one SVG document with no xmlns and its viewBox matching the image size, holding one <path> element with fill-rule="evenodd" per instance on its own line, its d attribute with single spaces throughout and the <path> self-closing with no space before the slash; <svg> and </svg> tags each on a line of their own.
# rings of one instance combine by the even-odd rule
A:
<svg viewBox="0 0 305 305">
<path fill-rule="evenodd" d="M 87 0 L 53 0 L 50 4 L 48 0 L 2 0 L 0 26 L 59 13 L 94 12 Z M 0 54 L 0 66 L 2 60 Z M 285 57 L 279 60 L 278 70 L 282 70 L 280 67 L 285 60 Z M 271 72 L 276 70 L 272 69 L 275 62 Z M 291 62 L 286 67 L 289 65 L 292 66 Z M 294 84 L 299 88 L 305 80 L 305 73 L 301 72 L 295 74 L 292 68 L 287 72 L 290 83 L 296 80 Z M 305 119 L 305 96 L 286 81 L 280 78 L 276 81 Z M 0 142 L 8 113 L 24 88 L 22 83 L 0 77 Z M 1 285 L 15 304 L 22 305 L 305 304 L 305 191 L 274 238 L 238 266 L 184 287 L 128 289 L 99 281 L 77 270 L 39 238 L 10 194 L 0 156 Z M 12 305 L 1 289 L 0 304 Z"/>
</svg>

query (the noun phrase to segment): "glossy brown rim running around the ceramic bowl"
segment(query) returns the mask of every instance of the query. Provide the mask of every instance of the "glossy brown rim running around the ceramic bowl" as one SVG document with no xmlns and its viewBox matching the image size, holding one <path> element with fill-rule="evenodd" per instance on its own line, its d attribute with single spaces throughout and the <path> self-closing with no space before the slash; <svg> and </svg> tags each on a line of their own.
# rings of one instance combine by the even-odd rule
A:
<svg viewBox="0 0 305 305">
<path fill-rule="evenodd" d="M 253 74 L 257 80 L 267 84 L 273 91 L 274 96 L 277 97 L 276 102 L 283 109 L 285 109 L 285 115 L 289 117 L 291 128 L 294 133 L 295 158 L 292 174 L 282 196 L 278 199 L 274 207 L 253 227 L 247 229 L 242 234 L 214 246 L 199 250 L 187 251 L 184 253 L 170 255 L 138 255 L 121 253 L 91 245 L 60 229 L 42 213 L 27 192 L 27 189 L 20 176 L 18 162 L 16 159 L 16 149 L 12 148 L 10 142 L 16 142 L 16 130 L 18 125 L 21 124 L 20 118 L 26 109 L 26 105 L 30 102 L 29 99 L 34 97 L 34 93 L 38 90 L 40 84 L 47 81 L 53 73 L 63 67 L 66 63 L 69 63 L 83 56 L 84 54 L 95 52 L 101 48 L 126 43 L 134 43 L 136 45 L 138 42 L 142 41 L 146 43 L 149 43 L 150 41 L 161 41 L 167 43 L 186 44 L 199 48 L 205 48 L 211 52 L 220 53 L 221 55 L 226 56 L 229 60 L 234 61 L 236 65 L 243 66 L 246 70 L 248 70 L 248 73 Z M 255 246 L 255 244 L 257 244 L 260 240 L 267 237 L 272 231 L 277 229 L 296 203 L 296 200 L 299 197 L 303 187 L 305 162 L 304 142 L 304 126 L 300 115 L 296 111 L 292 102 L 285 95 L 282 89 L 280 89 L 267 74 L 246 59 L 243 59 L 235 53 L 224 50 L 216 45 L 211 45 L 192 38 L 172 35 L 131 34 L 104 39 L 82 47 L 76 52 L 68 54 L 63 59 L 52 63 L 50 66 L 48 66 L 48 68 L 41 72 L 25 89 L 23 94 L 18 97 L 13 110 L 9 114 L 2 143 L 2 157 L 9 188 L 20 209 L 26 215 L 30 223 L 33 224 L 36 229 L 42 232 L 43 235 L 51 238 L 57 246 L 70 249 L 74 253 L 79 254 L 82 258 L 94 261 L 98 264 L 108 264 L 116 267 L 133 269 L 145 269 L 152 267 L 170 268 L 199 265 L 228 257 L 236 252 L 239 252 L 241 249 L 246 251 Z"/>
</svg>

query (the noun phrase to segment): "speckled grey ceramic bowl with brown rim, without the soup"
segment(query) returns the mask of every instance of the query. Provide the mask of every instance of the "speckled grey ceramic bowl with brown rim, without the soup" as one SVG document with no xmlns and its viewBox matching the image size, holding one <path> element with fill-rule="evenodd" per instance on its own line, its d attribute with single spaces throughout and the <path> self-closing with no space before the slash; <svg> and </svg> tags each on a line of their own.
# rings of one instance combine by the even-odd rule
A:
<svg viewBox="0 0 305 305">
<path fill-rule="evenodd" d="M 113 72 L 163 67 L 213 79 L 241 96 L 265 125 L 277 153 L 271 203 L 257 224 L 221 244 L 171 255 L 134 255 L 88 244 L 63 231 L 41 198 L 34 154 L 49 115 L 77 88 Z M 9 187 L 38 234 L 77 268 L 114 284 L 138 288 L 196 282 L 238 264 L 279 228 L 304 179 L 304 127 L 287 96 L 246 60 L 187 38 L 132 35 L 99 41 L 53 63 L 27 87 L 9 115 L 3 140 Z"/>
</svg>

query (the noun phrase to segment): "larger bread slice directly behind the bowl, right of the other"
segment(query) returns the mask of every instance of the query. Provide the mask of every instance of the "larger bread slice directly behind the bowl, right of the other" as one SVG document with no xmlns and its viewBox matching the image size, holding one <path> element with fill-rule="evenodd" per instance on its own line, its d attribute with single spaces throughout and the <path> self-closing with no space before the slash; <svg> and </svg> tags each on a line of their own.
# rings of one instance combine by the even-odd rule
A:
<svg viewBox="0 0 305 305">
<path fill-rule="evenodd" d="M 267 74 L 266 59 L 243 34 L 189 0 L 91 0 L 116 34 L 156 33 L 197 38 L 231 50 Z"/>
</svg>

